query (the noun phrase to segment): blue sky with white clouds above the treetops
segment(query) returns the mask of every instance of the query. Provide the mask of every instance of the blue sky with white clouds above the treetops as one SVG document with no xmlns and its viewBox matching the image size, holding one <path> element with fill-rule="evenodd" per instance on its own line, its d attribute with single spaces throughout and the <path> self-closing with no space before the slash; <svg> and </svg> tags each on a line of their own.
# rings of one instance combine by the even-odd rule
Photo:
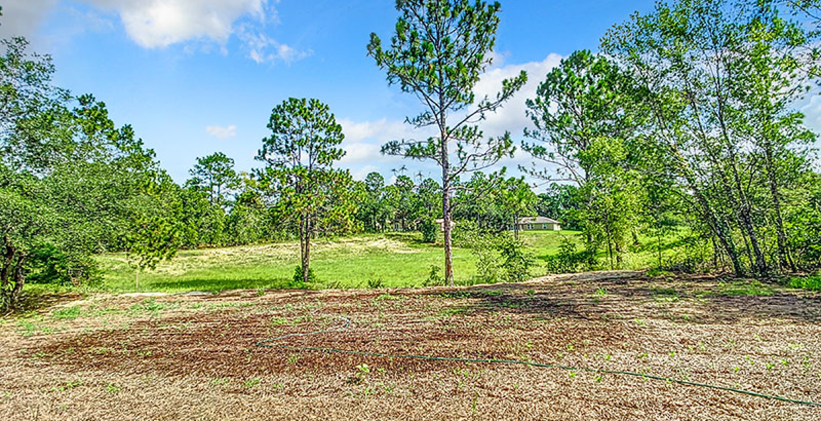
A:
<svg viewBox="0 0 821 421">
<path fill-rule="evenodd" d="M 403 124 L 422 109 L 390 87 L 365 54 L 369 34 L 389 39 L 397 18 L 391 0 L 11 0 L 2 2 L 0 35 L 25 35 L 50 53 L 55 82 L 108 104 L 115 123 L 131 124 L 178 181 L 198 156 L 225 152 L 249 170 L 266 136 L 271 109 L 288 97 L 328 103 L 346 133 L 342 166 L 362 178 L 437 175 L 430 164 L 378 153 L 401 137 L 423 135 Z M 530 83 L 484 123 L 488 135 L 509 130 L 521 140 L 524 101 L 559 60 L 596 50 L 608 28 L 651 0 L 502 1 L 496 62 L 479 86 L 494 94 L 524 69 Z M 810 123 L 821 100 L 806 105 Z M 503 162 L 511 173 L 530 160 Z M 502 165 L 500 164 L 500 166 Z"/>
</svg>

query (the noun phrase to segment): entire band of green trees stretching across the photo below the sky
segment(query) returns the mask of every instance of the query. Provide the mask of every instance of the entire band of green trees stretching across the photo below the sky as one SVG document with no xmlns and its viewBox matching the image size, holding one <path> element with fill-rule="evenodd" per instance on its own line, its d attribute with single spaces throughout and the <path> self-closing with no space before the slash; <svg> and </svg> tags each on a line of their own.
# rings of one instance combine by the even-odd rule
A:
<svg viewBox="0 0 821 421">
<path fill-rule="evenodd" d="M 383 154 L 438 164 L 441 177 L 396 171 L 356 181 L 337 168 L 344 133 L 319 99 L 273 107 L 261 168 L 237 172 L 217 152 L 174 183 L 134 130 L 93 95 L 54 86 L 51 58 L 2 40 L 0 57 L 0 307 L 30 282 L 93 284 L 91 256 L 127 252 L 141 270 L 178 248 L 300 240 L 295 282 L 309 282 L 318 236 L 443 230 L 452 284 L 452 224 L 502 232 L 544 215 L 580 231 L 557 267 L 623 265 L 641 238 L 658 238 L 658 266 L 768 276 L 821 264 L 821 175 L 816 133 L 796 104 L 817 95 L 817 0 L 658 2 L 614 25 L 600 53 L 576 51 L 526 99 L 533 127 L 488 137 L 481 121 L 528 81 L 502 81 L 477 98 L 492 65 L 501 6 L 477 0 L 402 0 L 388 43 L 367 54 L 388 84 L 420 99 L 408 118 L 427 139 Z M 537 75 L 541 77 L 542 75 Z M 518 148 L 517 148 L 518 146 Z M 492 171 L 521 149 L 524 178 Z M 441 220 L 437 222 L 437 220 Z M 456 225 L 459 226 L 458 224 Z M 686 233 L 698 252 L 664 261 L 662 241 Z"/>
</svg>

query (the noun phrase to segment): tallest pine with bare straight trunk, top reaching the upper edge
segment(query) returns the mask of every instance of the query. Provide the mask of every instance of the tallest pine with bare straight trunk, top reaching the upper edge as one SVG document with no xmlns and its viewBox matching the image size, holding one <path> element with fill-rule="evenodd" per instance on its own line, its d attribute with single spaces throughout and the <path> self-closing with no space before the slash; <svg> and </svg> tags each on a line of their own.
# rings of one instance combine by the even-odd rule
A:
<svg viewBox="0 0 821 421">
<path fill-rule="evenodd" d="M 435 126 L 438 136 L 422 141 L 391 141 L 383 154 L 415 160 L 433 160 L 442 168 L 443 219 L 452 220 L 449 205 L 453 182 L 460 174 L 487 168 L 504 156 L 512 156 L 510 133 L 484 139 L 475 126 L 511 99 L 527 81 L 525 72 L 502 81 L 494 99 L 475 98 L 475 85 L 491 64 L 499 24 L 498 2 L 465 0 L 403 0 L 396 35 L 387 49 L 378 35 L 370 35 L 368 55 L 388 73 L 388 83 L 417 95 L 425 110 L 408 122 L 415 127 Z M 475 105 L 468 109 L 470 105 Z M 466 110 L 467 109 L 467 110 Z M 448 123 L 453 113 L 456 123 Z M 446 224 L 445 280 L 453 284 L 451 227 Z"/>
</svg>

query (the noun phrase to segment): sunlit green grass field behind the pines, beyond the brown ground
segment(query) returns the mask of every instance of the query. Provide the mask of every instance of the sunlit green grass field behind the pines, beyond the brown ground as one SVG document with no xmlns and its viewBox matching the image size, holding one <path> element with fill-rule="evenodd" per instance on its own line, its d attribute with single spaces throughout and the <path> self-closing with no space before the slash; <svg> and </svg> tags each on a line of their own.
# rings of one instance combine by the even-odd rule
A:
<svg viewBox="0 0 821 421">
<path fill-rule="evenodd" d="M 544 257 L 558 250 L 562 238 L 576 232 L 522 233 L 527 251 L 536 257 L 534 275 L 544 275 Z M 364 288 L 381 280 L 388 287 L 423 285 L 431 266 L 443 266 L 441 245 L 422 243 L 417 233 L 363 234 L 332 241 L 318 240 L 311 249 L 311 268 L 318 276 L 314 289 Z M 99 257 L 105 273 L 103 289 L 133 291 L 134 270 L 126 256 Z M 299 244 L 274 243 L 236 248 L 181 250 L 172 261 L 163 261 L 155 271 L 140 274 L 142 291 L 188 291 L 286 288 L 299 264 Z M 470 250 L 454 248 L 456 281 L 469 283 L 476 275 Z M 441 273 L 440 273 L 441 275 Z"/>
</svg>

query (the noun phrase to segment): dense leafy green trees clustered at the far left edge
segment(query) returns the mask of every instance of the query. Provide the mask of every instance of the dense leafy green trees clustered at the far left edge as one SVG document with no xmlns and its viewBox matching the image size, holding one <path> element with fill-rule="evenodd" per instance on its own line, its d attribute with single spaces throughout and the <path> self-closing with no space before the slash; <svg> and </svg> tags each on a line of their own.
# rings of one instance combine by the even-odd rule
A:
<svg viewBox="0 0 821 421">
<path fill-rule="evenodd" d="M 0 308 L 15 309 L 26 280 L 99 280 L 89 255 L 128 243 L 139 228 L 135 204 L 162 203 L 149 198 L 168 178 L 103 102 L 51 85 L 48 56 L 26 53 L 25 39 L 2 44 Z M 149 208 L 142 215 L 163 214 Z"/>
</svg>

